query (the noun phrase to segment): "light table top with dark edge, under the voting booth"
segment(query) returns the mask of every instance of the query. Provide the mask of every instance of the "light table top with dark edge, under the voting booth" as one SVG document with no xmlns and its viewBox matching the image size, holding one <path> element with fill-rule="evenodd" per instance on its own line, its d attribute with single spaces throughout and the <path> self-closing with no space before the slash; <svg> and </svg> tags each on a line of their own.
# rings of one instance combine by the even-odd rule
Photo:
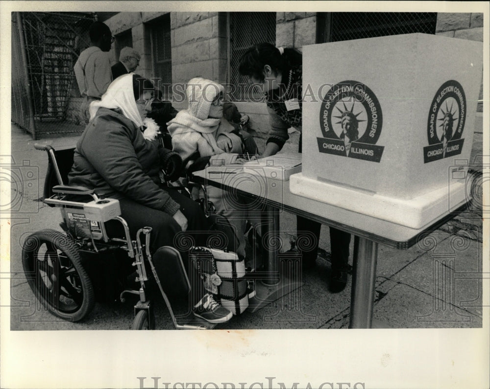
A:
<svg viewBox="0 0 490 389">
<path fill-rule="evenodd" d="M 289 181 L 266 179 L 260 172 L 257 174 L 245 173 L 240 165 L 210 166 L 206 170 L 195 172 L 193 180 L 258 199 L 280 211 L 291 212 L 400 250 L 413 246 L 421 236 L 425 236 L 425 233 L 439 228 L 466 207 L 466 202 L 463 202 L 454 211 L 441 215 L 427 226 L 412 229 L 295 195 L 289 190 Z"/>
</svg>

